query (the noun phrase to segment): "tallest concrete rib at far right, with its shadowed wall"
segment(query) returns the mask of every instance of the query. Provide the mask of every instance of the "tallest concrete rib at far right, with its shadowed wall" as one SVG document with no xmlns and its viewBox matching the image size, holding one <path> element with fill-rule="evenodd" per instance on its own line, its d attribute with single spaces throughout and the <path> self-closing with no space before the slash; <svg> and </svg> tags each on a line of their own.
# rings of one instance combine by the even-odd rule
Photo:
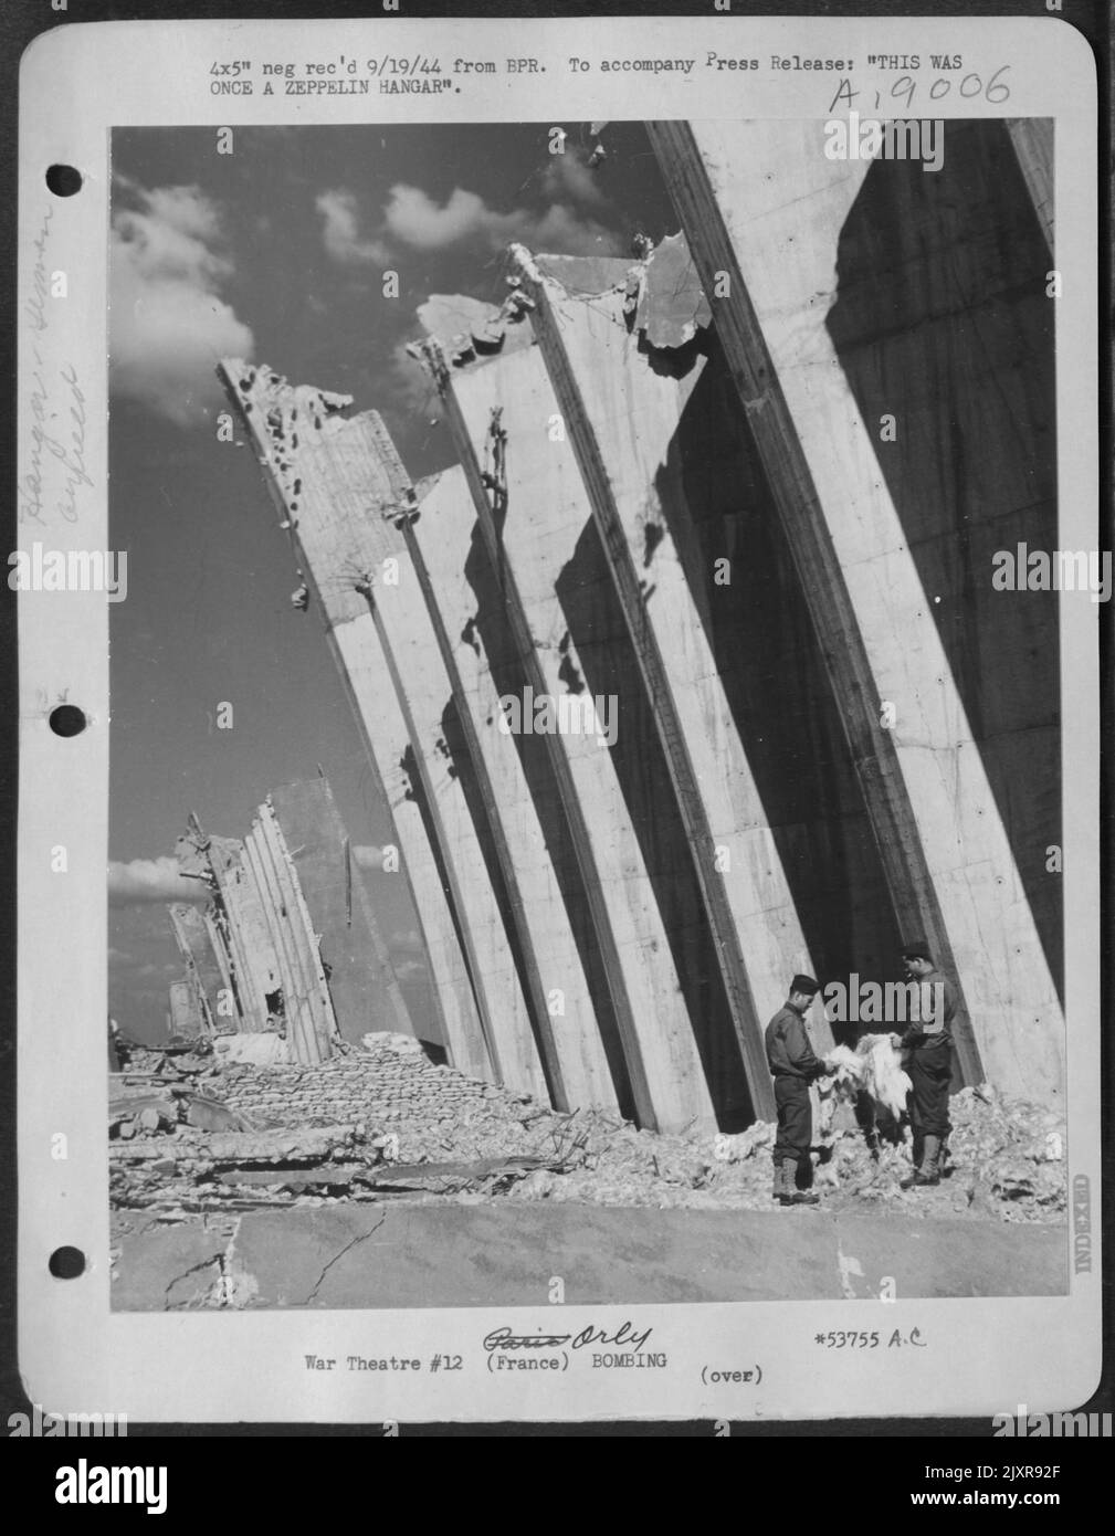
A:
<svg viewBox="0 0 1115 1536">
<path fill-rule="evenodd" d="M 1003 461 L 995 453 L 994 465 L 972 453 L 977 441 L 984 452 L 1012 444 L 1011 415 L 1038 444 L 1052 421 L 1038 272 L 1012 293 L 988 287 L 989 273 L 1015 270 L 989 243 L 1014 230 L 1038 255 L 1017 167 L 986 138 L 998 134 L 1001 147 L 1006 135 L 994 124 L 957 129 L 937 177 L 917 167 L 921 183 L 937 183 L 931 189 L 915 184 L 912 164 L 880 161 L 868 172 L 828 161 L 816 124 L 654 124 L 651 134 L 706 290 L 720 280 L 714 324 L 825 656 L 898 925 L 926 937 L 960 982 L 966 1077 L 1055 1098 L 1063 1015 L 1057 958 L 1050 966 L 1041 942 L 1050 897 L 1035 889 L 1034 851 L 1018 846 L 1038 828 L 1043 851 L 1057 840 L 1055 608 L 1029 630 L 1021 594 L 989 601 L 1001 594 L 989 591 L 988 561 L 995 524 L 1004 536 L 1034 527 L 1049 542 L 1049 493 L 1034 478 L 1032 447 L 1018 476 L 1004 462 L 1017 445 Z M 977 147 L 964 134 L 984 137 Z M 986 218 L 983 197 L 997 210 Z M 937 198 L 958 207 L 946 214 Z M 1043 275 L 1044 253 L 1037 264 Z M 1035 372 L 1023 355 L 1038 359 Z M 969 413 L 960 430 L 957 401 Z M 880 438 L 883 415 L 898 424 L 894 442 Z M 961 659 L 974 637 L 978 665 Z M 1032 660 L 1037 703 L 1021 702 Z M 894 707 L 886 723 L 885 702 Z"/>
</svg>

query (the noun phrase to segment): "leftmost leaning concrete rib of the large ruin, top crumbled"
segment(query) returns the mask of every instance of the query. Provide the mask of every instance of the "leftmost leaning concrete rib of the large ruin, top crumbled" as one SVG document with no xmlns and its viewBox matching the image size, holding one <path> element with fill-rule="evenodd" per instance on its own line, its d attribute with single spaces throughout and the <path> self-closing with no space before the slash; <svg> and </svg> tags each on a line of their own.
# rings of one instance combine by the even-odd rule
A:
<svg viewBox="0 0 1115 1536">
<path fill-rule="evenodd" d="M 389 805 L 402 811 L 396 829 L 447 1048 L 478 1077 L 491 1075 L 502 1052 L 508 1078 L 522 1074 L 541 1086 L 521 982 L 498 942 L 499 899 L 481 833 L 444 751 L 439 719 L 452 688 L 390 519 L 398 487 L 382 459 L 379 421 L 349 422 L 347 398 L 290 389 L 247 364 L 226 364 L 223 378 L 267 467 Z"/>
</svg>

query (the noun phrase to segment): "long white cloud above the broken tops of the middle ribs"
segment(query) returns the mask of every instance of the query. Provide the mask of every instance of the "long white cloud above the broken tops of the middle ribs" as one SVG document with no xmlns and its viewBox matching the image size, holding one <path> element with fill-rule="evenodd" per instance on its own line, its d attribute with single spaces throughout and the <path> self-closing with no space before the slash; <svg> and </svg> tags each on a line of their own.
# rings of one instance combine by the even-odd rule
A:
<svg viewBox="0 0 1115 1536">
<path fill-rule="evenodd" d="M 564 178 L 565 189 L 570 190 L 577 172 L 551 172 L 548 177 L 551 183 Z M 421 187 L 398 183 L 390 190 L 384 217 L 389 232 L 416 250 L 442 250 L 461 243 L 499 250 L 511 241 L 530 246 L 531 250 L 567 257 L 610 257 L 620 250 L 614 230 L 594 218 L 582 217 L 565 203 L 554 203 L 541 215 L 527 209 L 501 214 L 488 207 L 476 192 L 465 192 L 462 187 L 455 187 L 439 206 Z"/>
</svg>

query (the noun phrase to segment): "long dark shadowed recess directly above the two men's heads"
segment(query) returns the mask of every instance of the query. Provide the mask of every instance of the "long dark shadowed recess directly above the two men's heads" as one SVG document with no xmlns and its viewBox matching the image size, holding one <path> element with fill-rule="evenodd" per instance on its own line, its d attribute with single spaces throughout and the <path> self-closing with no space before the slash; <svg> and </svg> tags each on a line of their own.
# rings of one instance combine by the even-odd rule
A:
<svg viewBox="0 0 1115 1536">
<path fill-rule="evenodd" d="M 711 338 L 654 488 L 817 978 L 897 980 L 900 934 L 820 645 Z M 645 574 L 654 581 L 653 553 Z M 855 1026 L 834 1035 L 854 1040 Z"/>
</svg>

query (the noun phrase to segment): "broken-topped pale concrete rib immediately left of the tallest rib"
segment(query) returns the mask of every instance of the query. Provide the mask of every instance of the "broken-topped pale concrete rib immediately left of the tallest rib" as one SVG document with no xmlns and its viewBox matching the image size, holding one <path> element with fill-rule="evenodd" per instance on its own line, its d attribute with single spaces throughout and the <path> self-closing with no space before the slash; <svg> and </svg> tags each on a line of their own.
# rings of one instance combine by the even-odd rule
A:
<svg viewBox="0 0 1115 1536">
<path fill-rule="evenodd" d="M 717 382 L 723 390 L 726 379 L 719 356 L 705 356 L 710 310 L 682 237 L 662 241 L 608 287 L 599 289 L 605 273 L 591 272 L 599 290 L 588 293 L 579 289 L 577 260 L 522 264 L 536 301 L 531 324 L 568 422 L 680 813 L 708 935 L 708 952 L 696 963 L 700 972 L 710 965 L 720 971 L 753 1098 L 765 1100 L 763 1026 L 785 998 L 788 978 L 812 972 L 819 962 L 782 866 L 753 743 L 733 710 L 739 665 L 751 650 L 746 628 L 719 653 L 711 644 L 708 621 L 731 605 L 736 574 L 722 544 L 694 547 L 700 525 L 711 521 L 722 535 L 722 518 L 739 508 L 746 432 L 736 410 L 693 442 L 694 415 L 708 402 L 702 398 L 693 412 L 691 396 L 713 393 Z M 777 733 L 768 725 L 766 734 Z M 831 1035 L 816 1012 L 816 1044 L 826 1049 Z"/>
</svg>

